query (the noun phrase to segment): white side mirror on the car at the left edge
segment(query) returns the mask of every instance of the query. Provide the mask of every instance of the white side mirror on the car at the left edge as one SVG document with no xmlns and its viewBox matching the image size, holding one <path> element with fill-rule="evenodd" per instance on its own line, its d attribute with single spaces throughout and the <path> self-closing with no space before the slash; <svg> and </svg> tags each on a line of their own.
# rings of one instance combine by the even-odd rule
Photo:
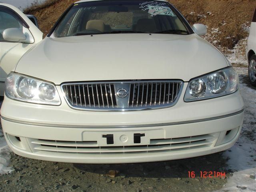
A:
<svg viewBox="0 0 256 192">
<path fill-rule="evenodd" d="M 8 28 L 4 30 L 3 38 L 7 41 L 26 42 L 26 36 L 19 28 Z"/>
</svg>

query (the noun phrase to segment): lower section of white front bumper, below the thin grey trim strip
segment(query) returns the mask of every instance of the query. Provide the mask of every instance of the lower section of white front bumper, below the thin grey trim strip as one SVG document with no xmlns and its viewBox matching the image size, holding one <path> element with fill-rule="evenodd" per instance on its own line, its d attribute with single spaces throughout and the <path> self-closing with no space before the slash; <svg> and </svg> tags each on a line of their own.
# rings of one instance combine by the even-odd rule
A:
<svg viewBox="0 0 256 192">
<path fill-rule="evenodd" d="M 8 133 L 5 132 L 8 145 L 20 156 L 71 163 L 131 163 L 190 158 L 226 150 L 238 139 L 243 116 L 241 111 L 184 124 L 97 130 L 33 125 L 5 118 L 1 122 L 8 127 Z M 140 144 L 127 146 L 134 133 L 145 136 Z M 106 144 L 103 134 L 113 134 L 115 144 Z"/>
</svg>

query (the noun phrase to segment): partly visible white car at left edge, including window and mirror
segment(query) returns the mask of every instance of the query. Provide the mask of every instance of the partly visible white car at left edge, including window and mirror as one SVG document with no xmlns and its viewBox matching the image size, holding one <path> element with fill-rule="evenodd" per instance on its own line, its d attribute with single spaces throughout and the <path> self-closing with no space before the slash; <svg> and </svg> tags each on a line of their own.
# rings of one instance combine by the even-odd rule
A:
<svg viewBox="0 0 256 192">
<path fill-rule="evenodd" d="M 19 39 L 17 32 L 24 38 Z M 0 3 L 0 96 L 4 96 L 6 76 L 42 36 L 43 33 L 18 8 Z"/>
</svg>

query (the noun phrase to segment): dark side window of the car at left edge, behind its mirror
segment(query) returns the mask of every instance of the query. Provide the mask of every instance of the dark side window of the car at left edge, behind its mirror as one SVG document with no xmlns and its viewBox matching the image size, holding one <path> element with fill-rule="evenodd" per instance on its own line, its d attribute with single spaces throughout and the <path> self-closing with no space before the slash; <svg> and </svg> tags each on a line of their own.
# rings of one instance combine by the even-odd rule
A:
<svg viewBox="0 0 256 192">
<path fill-rule="evenodd" d="M 19 28 L 22 30 L 23 26 L 10 12 L 0 9 L 0 41 L 4 40 L 2 34 L 8 28 Z"/>
</svg>

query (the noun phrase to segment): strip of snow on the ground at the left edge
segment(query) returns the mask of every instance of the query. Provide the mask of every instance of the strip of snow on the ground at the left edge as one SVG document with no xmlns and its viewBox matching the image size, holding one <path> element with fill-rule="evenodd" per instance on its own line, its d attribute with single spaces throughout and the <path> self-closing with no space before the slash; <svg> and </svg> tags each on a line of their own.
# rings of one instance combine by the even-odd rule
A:
<svg viewBox="0 0 256 192">
<path fill-rule="evenodd" d="M 2 101 L 0 101 L 0 108 Z M 1 125 L 0 125 L 1 126 Z M 10 148 L 8 147 L 2 128 L 0 128 L 0 174 L 8 174 L 13 171 L 12 167 L 9 167 L 10 164 Z"/>
</svg>

